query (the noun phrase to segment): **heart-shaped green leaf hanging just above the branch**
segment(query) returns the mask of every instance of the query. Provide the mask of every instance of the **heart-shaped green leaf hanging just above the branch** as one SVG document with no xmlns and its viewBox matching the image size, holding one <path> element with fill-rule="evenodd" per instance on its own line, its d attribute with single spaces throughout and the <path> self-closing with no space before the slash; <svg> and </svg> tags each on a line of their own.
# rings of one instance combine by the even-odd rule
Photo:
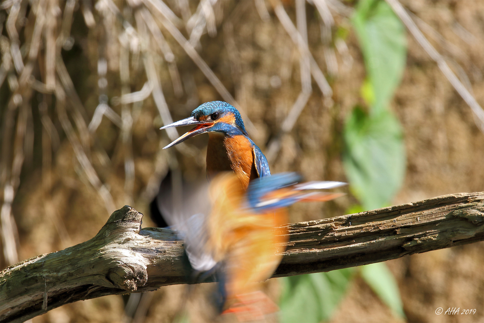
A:
<svg viewBox="0 0 484 323">
<path fill-rule="evenodd" d="M 400 123 L 390 111 L 356 107 L 345 125 L 343 165 L 364 210 L 388 205 L 403 183 L 406 158 Z"/>
</svg>

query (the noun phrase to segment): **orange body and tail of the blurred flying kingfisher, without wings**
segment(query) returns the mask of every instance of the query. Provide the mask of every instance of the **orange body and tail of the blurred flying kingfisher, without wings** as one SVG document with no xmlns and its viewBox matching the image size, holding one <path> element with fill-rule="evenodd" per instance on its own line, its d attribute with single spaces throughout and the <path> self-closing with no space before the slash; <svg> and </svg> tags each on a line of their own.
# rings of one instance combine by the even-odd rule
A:
<svg viewBox="0 0 484 323">
<path fill-rule="evenodd" d="M 256 212 L 247 206 L 245 190 L 233 173 L 217 175 L 210 185 L 212 212 L 208 248 L 223 262 L 224 314 L 239 321 L 261 320 L 277 306 L 260 292 L 261 282 L 279 265 L 287 242 L 285 209 Z"/>
</svg>

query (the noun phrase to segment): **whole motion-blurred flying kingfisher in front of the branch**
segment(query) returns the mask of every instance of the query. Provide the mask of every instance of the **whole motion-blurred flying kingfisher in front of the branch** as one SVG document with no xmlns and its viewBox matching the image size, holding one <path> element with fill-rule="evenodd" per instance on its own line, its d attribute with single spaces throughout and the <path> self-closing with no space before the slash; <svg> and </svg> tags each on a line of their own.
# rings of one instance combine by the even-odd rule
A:
<svg viewBox="0 0 484 323">
<path fill-rule="evenodd" d="M 261 292 L 261 282 L 272 276 L 283 257 L 289 238 L 284 226 L 287 207 L 344 195 L 322 190 L 345 183 L 301 181 L 295 172 L 279 173 L 255 179 L 244 189 L 234 172 L 219 172 L 210 184 L 183 187 L 178 212 L 170 202 L 174 194 L 169 189 L 171 180 L 162 183 L 157 198 L 161 214 L 185 240 L 195 273 L 200 277 L 216 274 L 221 283 L 216 299 L 222 315 L 235 314 L 239 322 L 260 322 L 264 315 L 278 311 Z"/>
</svg>

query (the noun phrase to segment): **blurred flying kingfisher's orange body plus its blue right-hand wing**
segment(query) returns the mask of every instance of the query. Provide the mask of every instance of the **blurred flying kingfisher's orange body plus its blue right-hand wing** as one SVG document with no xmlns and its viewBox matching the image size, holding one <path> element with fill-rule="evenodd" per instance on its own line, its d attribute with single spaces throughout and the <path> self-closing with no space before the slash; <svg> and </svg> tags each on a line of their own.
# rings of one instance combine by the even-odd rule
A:
<svg viewBox="0 0 484 323">
<path fill-rule="evenodd" d="M 207 222 L 207 248 L 214 261 L 224 263 L 225 314 L 240 321 L 260 320 L 277 306 L 260 291 L 279 265 L 288 239 L 287 206 L 298 201 L 331 200 L 342 193 L 316 190 L 344 185 L 340 182 L 298 184 L 296 173 L 256 179 L 244 190 L 231 172 L 217 175 L 210 184 L 212 210 Z"/>
</svg>

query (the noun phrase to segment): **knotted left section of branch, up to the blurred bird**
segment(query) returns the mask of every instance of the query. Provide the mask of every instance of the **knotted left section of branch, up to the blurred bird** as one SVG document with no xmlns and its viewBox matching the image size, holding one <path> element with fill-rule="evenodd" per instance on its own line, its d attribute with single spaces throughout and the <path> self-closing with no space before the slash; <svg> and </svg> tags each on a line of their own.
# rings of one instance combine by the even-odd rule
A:
<svg viewBox="0 0 484 323">
<path fill-rule="evenodd" d="M 23 322 L 78 300 L 185 282 L 190 265 L 183 241 L 168 229 L 140 230 L 142 216 L 126 205 L 91 240 L 4 269 L 0 322 Z"/>
</svg>

